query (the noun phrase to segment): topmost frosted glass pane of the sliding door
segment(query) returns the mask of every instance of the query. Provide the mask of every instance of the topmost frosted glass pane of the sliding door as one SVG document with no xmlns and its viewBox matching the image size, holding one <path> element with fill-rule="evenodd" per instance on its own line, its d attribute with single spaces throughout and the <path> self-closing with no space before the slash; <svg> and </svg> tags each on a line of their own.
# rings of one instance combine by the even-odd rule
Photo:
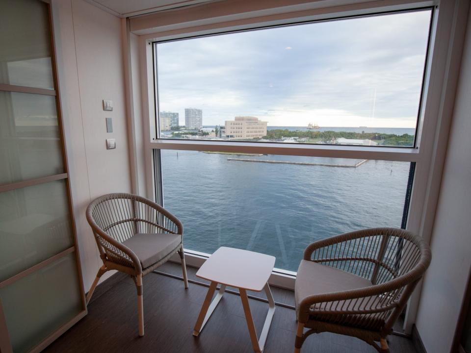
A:
<svg viewBox="0 0 471 353">
<path fill-rule="evenodd" d="M 0 1 L 0 83 L 53 89 L 48 5 Z"/>
</svg>

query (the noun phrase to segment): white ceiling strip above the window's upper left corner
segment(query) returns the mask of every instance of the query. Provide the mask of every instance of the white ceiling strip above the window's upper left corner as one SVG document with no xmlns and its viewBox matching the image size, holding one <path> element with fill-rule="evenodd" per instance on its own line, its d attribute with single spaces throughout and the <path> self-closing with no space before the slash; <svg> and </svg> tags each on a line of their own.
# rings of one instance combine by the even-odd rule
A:
<svg viewBox="0 0 471 353">
<path fill-rule="evenodd" d="M 118 17 L 131 17 L 210 0 L 85 0 Z"/>
</svg>

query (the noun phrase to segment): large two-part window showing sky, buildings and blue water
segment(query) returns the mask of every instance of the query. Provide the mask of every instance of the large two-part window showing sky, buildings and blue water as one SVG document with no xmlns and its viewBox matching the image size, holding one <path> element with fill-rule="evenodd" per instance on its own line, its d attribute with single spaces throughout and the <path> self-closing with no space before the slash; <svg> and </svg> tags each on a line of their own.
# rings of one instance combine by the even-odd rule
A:
<svg viewBox="0 0 471 353">
<path fill-rule="evenodd" d="M 408 227 L 432 12 L 154 42 L 156 196 L 185 249 L 296 271 L 315 240 Z"/>
</svg>

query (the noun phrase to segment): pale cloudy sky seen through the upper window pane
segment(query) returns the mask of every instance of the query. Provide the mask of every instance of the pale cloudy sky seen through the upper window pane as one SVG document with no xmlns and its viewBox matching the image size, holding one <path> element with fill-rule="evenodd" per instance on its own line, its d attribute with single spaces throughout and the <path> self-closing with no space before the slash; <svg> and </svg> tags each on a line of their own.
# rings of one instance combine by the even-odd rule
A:
<svg viewBox="0 0 471 353">
<path fill-rule="evenodd" d="M 160 111 L 203 125 L 415 127 L 431 11 L 157 44 Z"/>
</svg>

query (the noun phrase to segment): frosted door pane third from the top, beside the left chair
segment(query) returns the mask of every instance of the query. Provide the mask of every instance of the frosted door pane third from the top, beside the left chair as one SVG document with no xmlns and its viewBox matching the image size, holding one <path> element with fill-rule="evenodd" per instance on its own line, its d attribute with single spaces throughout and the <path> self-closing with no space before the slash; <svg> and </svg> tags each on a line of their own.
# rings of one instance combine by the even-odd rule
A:
<svg viewBox="0 0 471 353">
<path fill-rule="evenodd" d="M 64 180 L 0 193 L 0 281 L 71 246 Z"/>
</svg>

